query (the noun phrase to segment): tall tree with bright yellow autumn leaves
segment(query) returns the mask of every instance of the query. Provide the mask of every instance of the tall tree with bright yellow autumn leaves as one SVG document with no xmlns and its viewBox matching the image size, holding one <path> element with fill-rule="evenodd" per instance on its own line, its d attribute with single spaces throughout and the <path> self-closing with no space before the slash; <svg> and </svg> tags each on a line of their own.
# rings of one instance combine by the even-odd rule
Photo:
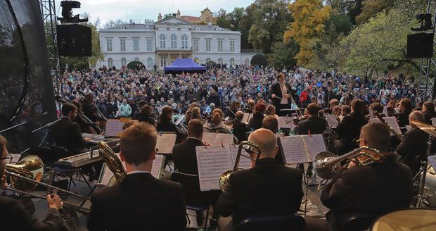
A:
<svg viewBox="0 0 436 231">
<path fill-rule="evenodd" d="M 284 39 L 291 38 L 300 46 L 295 56 L 298 65 L 306 65 L 314 57 L 314 47 L 324 31 L 324 22 L 329 18 L 331 6 L 322 6 L 319 0 L 297 0 L 289 4 L 294 22 L 288 25 Z"/>
</svg>

